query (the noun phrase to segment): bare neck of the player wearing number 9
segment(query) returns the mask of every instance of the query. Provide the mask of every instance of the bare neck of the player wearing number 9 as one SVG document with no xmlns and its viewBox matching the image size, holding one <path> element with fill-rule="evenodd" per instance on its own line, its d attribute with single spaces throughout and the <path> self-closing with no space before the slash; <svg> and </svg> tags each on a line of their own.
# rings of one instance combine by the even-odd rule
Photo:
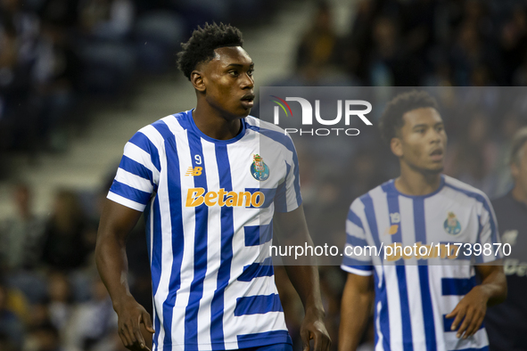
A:
<svg viewBox="0 0 527 351">
<path fill-rule="evenodd" d="M 238 135 L 242 129 L 240 118 L 225 118 L 218 113 L 218 110 L 206 104 L 198 104 L 193 111 L 193 118 L 196 127 L 212 139 L 229 140 Z"/>
</svg>

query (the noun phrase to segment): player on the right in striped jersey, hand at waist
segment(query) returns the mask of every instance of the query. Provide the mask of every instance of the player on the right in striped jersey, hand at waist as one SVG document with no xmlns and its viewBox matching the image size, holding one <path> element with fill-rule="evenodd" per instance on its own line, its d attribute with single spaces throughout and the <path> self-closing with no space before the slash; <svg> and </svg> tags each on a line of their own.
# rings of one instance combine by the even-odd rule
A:
<svg viewBox="0 0 527 351">
<path fill-rule="evenodd" d="M 375 351 L 489 350 L 482 320 L 488 305 L 506 298 L 503 266 L 478 265 L 500 263 L 490 201 L 441 175 L 447 135 L 430 95 L 397 96 L 384 111 L 381 130 L 399 158 L 400 175 L 351 204 L 339 350 L 358 347 L 372 305 Z M 466 244 L 463 255 L 456 256 L 456 242 Z M 387 248 L 395 243 L 413 250 L 399 249 L 396 256 Z M 351 250 L 381 244 L 381 256 Z M 491 249 L 478 255 L 475 244 Z"/>
</svg>

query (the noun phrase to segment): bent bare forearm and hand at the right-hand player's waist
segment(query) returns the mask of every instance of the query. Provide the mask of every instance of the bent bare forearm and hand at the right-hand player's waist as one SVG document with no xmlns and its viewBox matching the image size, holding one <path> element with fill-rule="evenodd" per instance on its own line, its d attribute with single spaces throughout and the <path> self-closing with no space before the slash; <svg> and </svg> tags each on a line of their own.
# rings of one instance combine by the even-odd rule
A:
<svg viewBox="0 0 527 351">
<path fill-rule="evenodd" d="M 456 308 L 446 315 L 454 318 L 451 330 L 457 331 L 457 338 L 466 339 L 480 329 L 487 306 L 497 305 L 506 299 L 506 276 L 503 265 L 476 265 L 476 271 L 482 277 L 482 283 L 476 285 L 459 301 Z M 465 333 L 465 335 L 464 335 Z"/>
</svg>

